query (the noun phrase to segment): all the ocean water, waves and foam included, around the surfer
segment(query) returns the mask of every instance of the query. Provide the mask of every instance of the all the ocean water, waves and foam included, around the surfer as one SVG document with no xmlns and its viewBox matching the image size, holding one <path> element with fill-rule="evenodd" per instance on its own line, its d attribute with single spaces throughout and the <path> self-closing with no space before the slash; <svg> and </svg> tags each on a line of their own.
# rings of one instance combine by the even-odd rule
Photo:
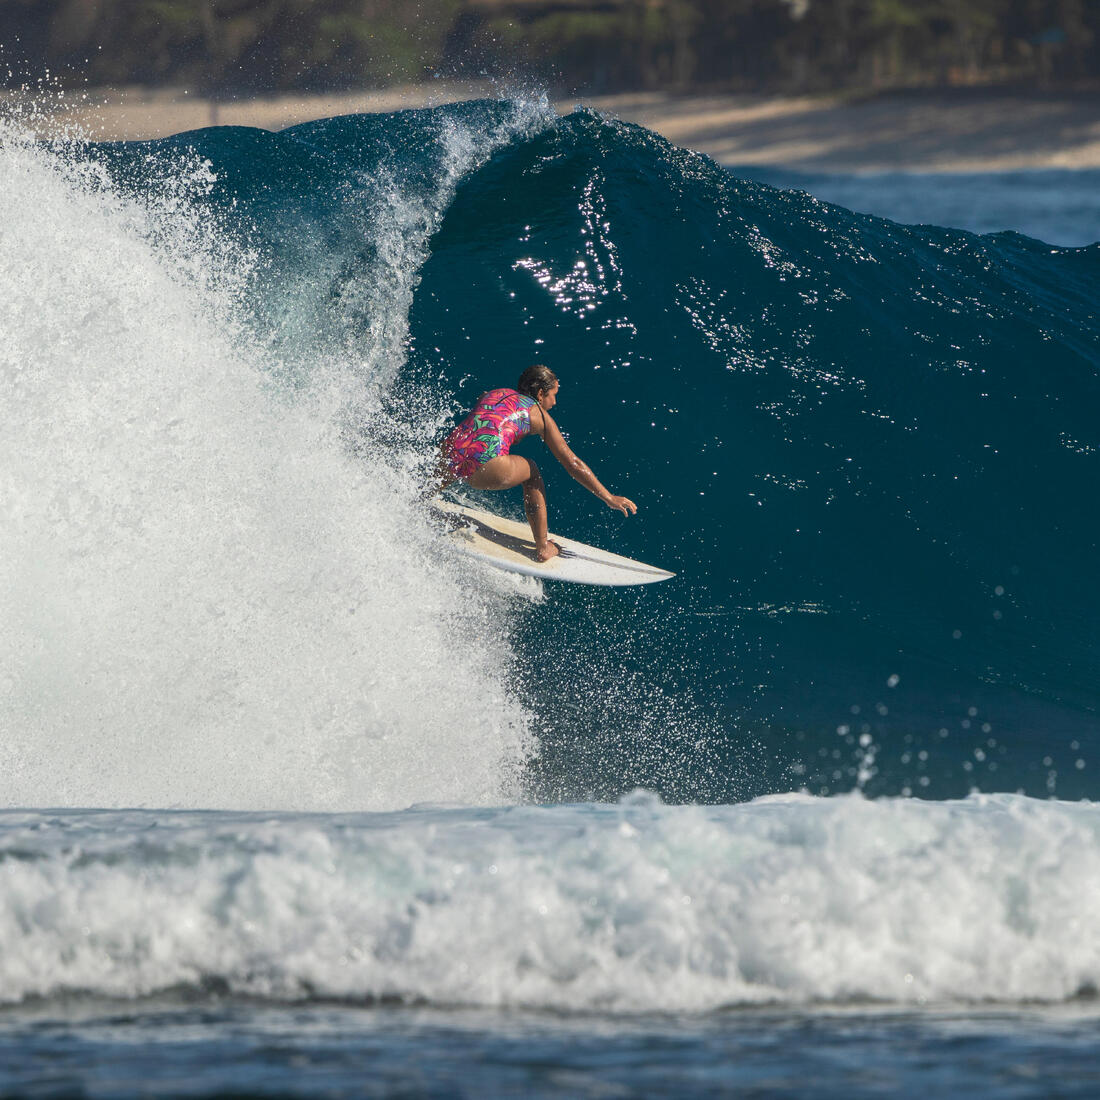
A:
<svg viewBox="0 0 1100 1100">
<path fill-rule="evenodd" d="M 1094 1092 L 1086 176 L 4 128 L 0 1094 Z M 674 581 L 441 549 L 536 361 Z"/>
</svg>

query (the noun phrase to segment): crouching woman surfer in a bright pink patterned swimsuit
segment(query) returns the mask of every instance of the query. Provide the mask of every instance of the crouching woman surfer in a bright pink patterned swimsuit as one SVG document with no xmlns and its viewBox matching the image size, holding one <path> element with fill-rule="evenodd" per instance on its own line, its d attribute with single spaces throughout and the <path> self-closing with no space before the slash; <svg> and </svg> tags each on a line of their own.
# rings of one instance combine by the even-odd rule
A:
<svg viewBox="0 0 1100 1100">
<path fill-rule="evenodd" d="M 524 486 L 524 510 L 535 536 L 535 557 L 549 561 L 561 552 L 551 542 L 547 526 L 547 493 L 539 468 L 510 454 L 513 444 L 534 432 L 541 436 L 550 453 L 569 474 L 595 493 L 608 508 L 631 516 L 634 501 L 608 493 L 596 475 L 570 450 L 550 409 L 558 403 L 558 376 L 547 366 L 529 366 L 515 389 L 491 389 L 482 394 L 473 411 L 443 441 L 439 479 L 447 488 L 461 479 L 473 488 Z"/>
</svg>

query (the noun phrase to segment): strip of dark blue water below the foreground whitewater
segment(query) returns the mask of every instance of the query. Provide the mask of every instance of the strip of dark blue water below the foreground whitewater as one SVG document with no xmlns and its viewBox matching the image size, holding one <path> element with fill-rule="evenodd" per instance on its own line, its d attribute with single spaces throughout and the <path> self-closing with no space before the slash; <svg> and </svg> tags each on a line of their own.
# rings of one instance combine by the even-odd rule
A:
<svg viewBox="0 0 1100 1100">
<path fill-rule="evenodd" d="M 6 1096 L 1091 1097 L 1093 1010 L 729 1012 L 74 1007 L 0 1024 Z"/>
</svg>

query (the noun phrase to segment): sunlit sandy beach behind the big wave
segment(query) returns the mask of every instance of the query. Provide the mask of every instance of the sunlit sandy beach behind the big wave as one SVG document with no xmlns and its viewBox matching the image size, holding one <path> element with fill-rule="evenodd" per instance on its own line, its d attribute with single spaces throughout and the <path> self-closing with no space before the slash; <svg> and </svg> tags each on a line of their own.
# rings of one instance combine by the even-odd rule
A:
<svg viewBox="0 0 1100 1100">
<path fill-rule="evenodd" d="M 122 89 L 69 99 L 40 132 L 76 124 L 97 140 L 141 140 L 211 124 L 280 130 L 310 119 L 495 95 L 479 85 L 285 96 L 212 105 L 183 90 Z M 812 172 L 1002 172 L 1100 167 L 1100 95 L 957 89 L 840 97 L 682 96 L 563 99 L 638 122 L 726 165 Z"/>
</svg>

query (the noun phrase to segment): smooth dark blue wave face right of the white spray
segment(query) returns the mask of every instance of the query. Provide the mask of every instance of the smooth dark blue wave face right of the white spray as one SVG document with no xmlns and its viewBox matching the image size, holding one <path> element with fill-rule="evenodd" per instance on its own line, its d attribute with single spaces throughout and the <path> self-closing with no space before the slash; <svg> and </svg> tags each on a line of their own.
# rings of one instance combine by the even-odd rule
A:
<svg viewBox="0 0 1100 1100">
<path fill-rule="evenodd" d="M 554 522 L 681 574 L 530 623 L 539 713 L 590 669 L 626 685 L 544 738 L 556 774 L 1094 791 L 1098 279 L 1097 246 L 854 215 L 585 111 L 463 180 L 414 360 L 468 395 L 554 367 L 572 444 L 641 507 L 593 518 L 557 479 Z"/>
</svg>

